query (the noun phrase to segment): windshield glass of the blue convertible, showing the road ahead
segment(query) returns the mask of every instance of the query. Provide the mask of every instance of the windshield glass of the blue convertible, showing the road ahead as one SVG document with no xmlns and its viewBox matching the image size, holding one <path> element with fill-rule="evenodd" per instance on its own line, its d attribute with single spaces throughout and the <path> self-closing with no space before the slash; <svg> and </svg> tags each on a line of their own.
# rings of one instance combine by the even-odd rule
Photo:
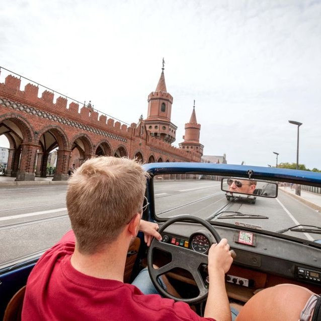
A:
<svg viewBox="0 0 321 321">
<path fill-rule="evenodd" d="M 170 218 L 187 214 L 310 241 L 321 239 L 320 188 L 276 182 L 277 198 L 267 198 L 222 191 L 221 179 L 198 174 L 155 176 L 156 216 Z M 224 182 L 225 179 L 223 189 Z M 300 196 L 295 195 L 296 189 L 300 189 Z"/>
</svg>

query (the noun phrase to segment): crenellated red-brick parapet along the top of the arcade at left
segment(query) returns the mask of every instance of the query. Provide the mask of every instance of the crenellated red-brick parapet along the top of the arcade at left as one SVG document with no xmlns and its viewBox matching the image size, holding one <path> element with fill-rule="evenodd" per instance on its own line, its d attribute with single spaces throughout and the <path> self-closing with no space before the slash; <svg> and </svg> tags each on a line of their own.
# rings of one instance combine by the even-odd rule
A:
<svg viewBox="0 0 321 321">
<path fill-rule="evenodd" d="M 0 84 L 0 95 L 6 99 L 13 100 L 25 105 L 36 107 L 45 112 L 52 113 L 56 116 L 63 116 L 72 121 L 82 122 L 86 125 L 95 126 L 102 130 L 112 131 L 117 134 L 130 138 L 133 128 L 127 127 L 126 124 L 121 124 L 119 121 L 115 122 L 112 118 L 107 118 L 106 115 L 100 115 L 95 110 L 83 106 L 79 110 L 79 105 L 71 102 L 69 106 L 68 100 L 65 97 L 57 97 L 54 103 L 54 93 L 48 90 L 39 95 L 39 87 L 33 84 L 27 84 L 24 91 L 20 90 L 21 79 L 8 75 L 5 83 Z"/>
</svg>

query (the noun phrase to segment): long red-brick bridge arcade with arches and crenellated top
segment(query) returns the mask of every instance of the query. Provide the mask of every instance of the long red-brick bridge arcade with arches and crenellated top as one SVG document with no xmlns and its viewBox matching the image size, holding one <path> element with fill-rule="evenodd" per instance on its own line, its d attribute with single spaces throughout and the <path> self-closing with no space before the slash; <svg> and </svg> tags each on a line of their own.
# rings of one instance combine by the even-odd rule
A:
<svg viewBox="0 0 321 321">
<path fill-rule="evenodd" d="M 164 70 L 162 75 L 164 78 Z M 165 85 L 165 78 L 163 81 Z M 84 105 L 80 111 L 75 102 L 67 106 L 67 99 L 61 96 L 54 103 L 53 92 L 47 90 L 39 98 L 38 86 L 27 84 L 22 91 L 20 85 L 21 79 L 11 74 L 4 84 L 0 83 L 0 135 L 4 134 L 10 143 L 6 175 L 16 177 L 17 181 L 46 177 L 48 155 L 57 147 L 53 180 L 66 180 L 72 164 L 78 167 L 94 155 L 137 157 L 143 163 L 201 161 L 202 153 L 181 149 L 192 146 L 174 147 L 161 139 L 161 133 L 157 137 L 157 133 L 147 130 L 148 118 L 127 125 L 89 105 Z M 164 89 L 158 92 L 156 88 L 152 94 L 158 96 L 159 93 L 163 95 Z M 161 99 L 159 104 L 162 104 L 163 112 Z M 163 125 L 164 129 L 166 121 L 168 119 L 163 119 L 159 127 Z M 173 128 L 176 129 L 173 126 L 172 135 L 175 133 Z M 198 146 L 203 150 L 203 145 Z"/>
</svg>

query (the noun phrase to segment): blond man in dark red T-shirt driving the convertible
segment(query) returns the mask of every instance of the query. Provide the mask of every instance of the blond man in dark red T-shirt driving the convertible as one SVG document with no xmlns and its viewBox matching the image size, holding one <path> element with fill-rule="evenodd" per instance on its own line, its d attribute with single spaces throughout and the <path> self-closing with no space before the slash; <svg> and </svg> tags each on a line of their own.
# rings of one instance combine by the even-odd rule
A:
<svg viewBox="0 0 321 321">
<path fill-rule="evenodd" d="M 74 172 L 66 195 L 72 230 L 33 268 L 23 321 L 231 320 L 224 274 L 232 258 L 224 238 L 209 250 L 204 318 L 184 302 L 123 283 L 127 251 L 138 231 L 148 246 L 152 237 L 162 239 L 157 224 L 141 220 L 147 176 L 132 159 L 106 156 Z"/>
</svg>

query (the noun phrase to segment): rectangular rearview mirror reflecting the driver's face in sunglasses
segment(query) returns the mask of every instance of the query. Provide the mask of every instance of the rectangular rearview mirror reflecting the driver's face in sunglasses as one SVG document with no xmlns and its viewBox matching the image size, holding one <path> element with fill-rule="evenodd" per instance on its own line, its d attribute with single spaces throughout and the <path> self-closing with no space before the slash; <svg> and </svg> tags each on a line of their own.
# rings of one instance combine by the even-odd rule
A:
<svg viewBox="0 0 321 321">
<path fill-rule="evenodd" d="M 278 185 L 276 183 L 249 180 L 245 178 L 223 178 L 221 190 L 231 194 L 245 194 L 260 197 L 277 197 Z"/>
</svg>

